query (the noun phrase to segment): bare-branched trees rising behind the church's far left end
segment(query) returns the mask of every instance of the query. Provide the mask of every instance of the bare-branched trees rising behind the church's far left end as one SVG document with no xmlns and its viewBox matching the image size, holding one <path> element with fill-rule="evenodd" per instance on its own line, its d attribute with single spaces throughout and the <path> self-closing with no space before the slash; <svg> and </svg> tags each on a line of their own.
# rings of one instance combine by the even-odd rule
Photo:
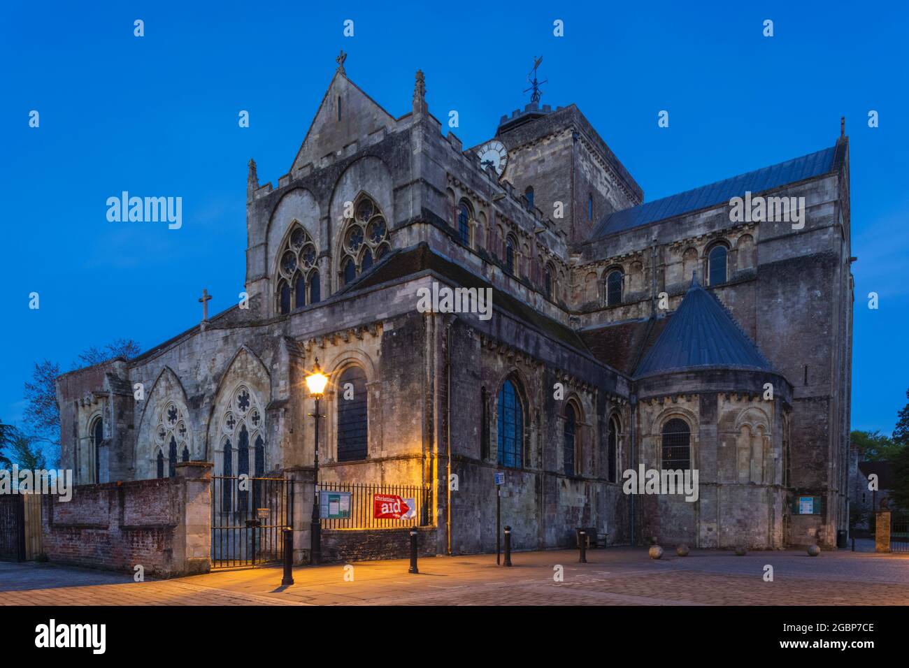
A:
<svg viewBox="0 0 909 668">
<path fill-rule="evenodd" d="M 108 362 L 115 357 L 132 359 L 142 351 L 132 339 L 115 339 L 99 348 L 93 345 L 79 354 L 71 364 L 72 371 Z M 56 380 L 60 365 L 50 360 L 35 364 L 31 382 L 25 383 L 25 424 L 34 441 L 60 446 L 60 406 L 56 403 Z"/>
</svg>

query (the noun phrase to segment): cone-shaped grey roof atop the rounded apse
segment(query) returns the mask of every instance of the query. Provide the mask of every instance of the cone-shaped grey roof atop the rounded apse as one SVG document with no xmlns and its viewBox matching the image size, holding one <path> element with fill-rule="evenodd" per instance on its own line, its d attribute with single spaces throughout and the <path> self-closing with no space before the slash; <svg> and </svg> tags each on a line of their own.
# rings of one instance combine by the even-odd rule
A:
<svg viewBox="0 0 909 668">
<path fill-rule="evenodd" d="M 635 377 L 705 368 L 769 371 L 770 363 L 719 300 L 692 278 Z"/>
</svg>

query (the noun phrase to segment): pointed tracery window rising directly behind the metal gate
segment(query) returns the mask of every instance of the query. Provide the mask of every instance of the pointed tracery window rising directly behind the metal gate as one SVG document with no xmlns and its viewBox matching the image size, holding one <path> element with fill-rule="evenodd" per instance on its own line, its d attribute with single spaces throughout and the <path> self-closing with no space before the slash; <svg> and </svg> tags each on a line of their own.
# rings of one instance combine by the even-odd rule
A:
<svg viewBox="0 0 909 668">
<path fill-rule="evenodd" d="M 221 470 L 226 477 L 265 472 L 265 413 L 258 397 L 246 385 L 240 385 L 231 394 L 230 402 L 221 412 Z M 250 444 L 254 444 L 250 447 Z M 234 480 L 223 481 L 222 504 L 225 512 L 248 510 L 249 492 L 239 489 Z M 232 490 L 236 489 L 232 499 Z M 255 499 L 255 481 L 253 484 Z"/>
</svg>

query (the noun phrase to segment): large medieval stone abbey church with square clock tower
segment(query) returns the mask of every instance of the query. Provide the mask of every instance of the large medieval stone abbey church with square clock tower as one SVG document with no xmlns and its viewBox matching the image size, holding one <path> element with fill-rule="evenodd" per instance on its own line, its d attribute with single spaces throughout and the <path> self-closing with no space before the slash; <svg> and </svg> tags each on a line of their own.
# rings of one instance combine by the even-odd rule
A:
<svg viewBox="0 0 909 668">
<path fill-rule="evenodd" d="M 59 380 L 76 484 L 181 461 L 311 471 L 317 360 L 319 482 L 431 490 L 432 553 L 494 551 L 496 472 L 519 550 L 574 545 L 577 527 L 609 544 L 834 545 L 854 290 L 842 133 L 644 202 L 575 105 L 526 105 L 466 147 L 421 72 L 395 117 L 339 63 L 287 174 L 260 184 L 249 163 L 248 307 Z M 745 193 L 804 197 L 804 225 L 736 222 Z M 492 317 L 421 312 L 434 284 L 491 288 Z M 624 493 L 626 471 L 650 469 L 697 470 L 696 500 Z"/>
</svg>

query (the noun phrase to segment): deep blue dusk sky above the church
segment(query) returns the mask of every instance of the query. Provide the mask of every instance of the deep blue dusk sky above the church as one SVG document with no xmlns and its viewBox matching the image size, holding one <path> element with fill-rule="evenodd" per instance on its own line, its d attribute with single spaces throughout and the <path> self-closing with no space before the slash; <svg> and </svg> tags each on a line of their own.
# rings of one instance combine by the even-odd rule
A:
<svg viewBox="0 0 909 668">
<path fill-rule="evenodd" d="M 235 304 L 246 163 L 255 157 L 263 184 L 287 173 L 343 47 L 347 75 L 393 115 L 410 110 L 422 68 L 430 111 L 456 109 L 465 146 L 525 104 L 524 77 L 543 55 L 544 104 L 576 103 L 647 200 L 833 145 L 845 115 L 858 257 L 853 426 L 892 430 L 909 387 L 904 4 L 326 5 L 0 10 L 0 419 L 21 419 L 35 361 L 68 368 L 116 337 L 165 341 L 198 322 L 203 287 L 213 312 Z M 133 35 L 136 18 L 144 37 Z M 553 36 L 555 19 L 564 37 Z M 242 109 L 249 128 L 237 125 Z M 662 109 L 668 129 L 656 124 Z M 108 223 L 105 200 L 124 190 L 181 196 L 182 229 Z"/>
</svg>

